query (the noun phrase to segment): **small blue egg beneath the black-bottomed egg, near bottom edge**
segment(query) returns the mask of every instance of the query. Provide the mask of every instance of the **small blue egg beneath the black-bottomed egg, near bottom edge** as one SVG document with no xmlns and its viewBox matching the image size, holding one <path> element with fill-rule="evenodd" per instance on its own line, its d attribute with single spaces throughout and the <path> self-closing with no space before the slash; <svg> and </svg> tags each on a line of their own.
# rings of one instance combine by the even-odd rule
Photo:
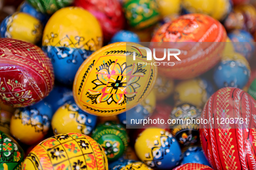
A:
<svg viewBox="0 0 256 170">
<path fill-rule="evenodd" d="M 211 164 L 204 156 L 203 149 L 201 147 L 190 147 L 182 155 L 181 165 L 187 163 L 204 164 L 211 167 Z"/>
</svg>

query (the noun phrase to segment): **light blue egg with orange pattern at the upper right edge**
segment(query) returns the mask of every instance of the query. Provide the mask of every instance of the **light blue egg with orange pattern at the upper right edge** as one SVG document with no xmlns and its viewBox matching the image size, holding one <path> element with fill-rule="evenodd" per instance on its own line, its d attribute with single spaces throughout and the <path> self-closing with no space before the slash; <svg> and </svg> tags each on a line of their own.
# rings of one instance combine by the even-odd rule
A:
<svg viewBox="0 0 256 170">
<path fill-rule="evenodd" d="M 235 51 L 242 54 L 246 60 L 251 60 L 255 51 L 253 36 L 244 30 L 234 30 L 227 34 L 227 36 L 233 42 Z"/>
</svg>

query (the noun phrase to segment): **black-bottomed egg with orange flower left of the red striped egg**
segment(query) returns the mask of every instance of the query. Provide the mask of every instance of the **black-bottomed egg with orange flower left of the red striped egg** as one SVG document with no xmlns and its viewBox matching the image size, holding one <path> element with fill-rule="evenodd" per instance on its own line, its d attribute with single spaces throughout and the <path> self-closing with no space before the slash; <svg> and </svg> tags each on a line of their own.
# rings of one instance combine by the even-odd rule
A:
<svg viewBox="0 0 256 170">
<path fill-rule="evenodd" d="M 199 142 L 199 125 L 196 123 L 187 124 L 185 120 L 200 119 L 201 111 L 200 108 L 192 104 L 180 104 L 173 108 L 169 117 L 172 120 L 170 129 L 182 148 Z M 177 120 L 177 122 L 173 120 Z M 184 120 L 184 122 L 181 123 L 178 120 Z"/>
</svg>

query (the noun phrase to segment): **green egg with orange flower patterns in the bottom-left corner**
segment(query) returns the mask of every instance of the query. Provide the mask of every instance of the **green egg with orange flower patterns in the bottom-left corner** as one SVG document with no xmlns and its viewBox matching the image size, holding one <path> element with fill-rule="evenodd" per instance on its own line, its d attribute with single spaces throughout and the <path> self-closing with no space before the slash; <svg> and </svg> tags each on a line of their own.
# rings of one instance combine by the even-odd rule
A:
<svg viewBox="0 0 256 170">
<path fill-rule="evenodd" d="M 21 170 L 24 161 L 24 151 L 9 135 L 0 132 L 0 169 Z"/>
</svg>

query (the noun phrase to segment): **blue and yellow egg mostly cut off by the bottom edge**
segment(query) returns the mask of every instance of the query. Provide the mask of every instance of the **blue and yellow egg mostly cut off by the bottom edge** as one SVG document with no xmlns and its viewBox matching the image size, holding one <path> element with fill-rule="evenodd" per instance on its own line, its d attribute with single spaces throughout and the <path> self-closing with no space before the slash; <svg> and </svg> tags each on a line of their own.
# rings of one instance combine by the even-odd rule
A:
<svg viewBox="0 0 256 170">
<path fill-rule="evenodd" d="M 134 160 L 118 160 L 109 164 L 109 170 L 152 170 L 146 164 Z"/>
</svg>

